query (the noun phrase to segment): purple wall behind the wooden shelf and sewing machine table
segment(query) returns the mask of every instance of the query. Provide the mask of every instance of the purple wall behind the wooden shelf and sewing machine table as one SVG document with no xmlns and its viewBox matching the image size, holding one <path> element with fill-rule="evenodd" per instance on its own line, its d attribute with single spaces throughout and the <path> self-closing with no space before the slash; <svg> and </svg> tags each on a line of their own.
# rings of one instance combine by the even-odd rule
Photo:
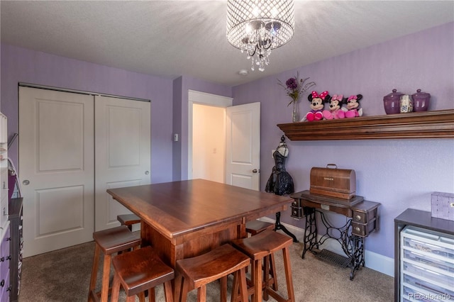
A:
<svg viewBox="0 0 454 302">
<path fill-rule="evenodd" d="M 279 51 L 279 50 L 276 50 Z M 261 189 L 270 176 L 271 150 L 283 134 L 277 123 L 290 123 L 289 97 L 277 85 L 299 72 L 316 82 L 314 90 L 330 94 L 362 94 L 365 116 L 384 115 L 383 96 L 393 88 L 406 94 L 416 89 L 431 93 L 430 110 L 454 108 L 454 23 L 407 35 L 387 43 L 356 50 L 312 65 L 283 72 L 260 81 L 233 87 L 233 103 L 261 102 Z M 304 96 L 301 116 L 309 111 Z M 368 237 L 367 250 L 394 257 L 394 218 L 406 208 L 431 210 L 431 192 L 454 192 L 454 140 L 340 140 L 290 141 L 287 171 L 296 191 L 309 189 L 311 167 L 336 163 L 355 169 L 357 194 L 382 203 L 380 231 Z M 333 220 L 345 218 L 332 214 Z M 289 211 L 285 223 L 304 228 L 304 220 L 293 220 Z"/>
</svg>

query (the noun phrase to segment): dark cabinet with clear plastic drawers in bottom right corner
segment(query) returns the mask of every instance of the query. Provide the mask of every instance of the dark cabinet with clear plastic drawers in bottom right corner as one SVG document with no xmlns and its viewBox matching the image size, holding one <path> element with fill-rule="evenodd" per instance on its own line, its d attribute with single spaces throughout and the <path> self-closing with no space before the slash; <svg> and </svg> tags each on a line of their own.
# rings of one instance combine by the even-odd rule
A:
<svg viewBox="0 0 454 302">
<path fill-rule="evenodd" d="M 454 298 L 453 269 L 454 221 L 412 208 L 394 218 L 394 301 Z"/>
</svg>

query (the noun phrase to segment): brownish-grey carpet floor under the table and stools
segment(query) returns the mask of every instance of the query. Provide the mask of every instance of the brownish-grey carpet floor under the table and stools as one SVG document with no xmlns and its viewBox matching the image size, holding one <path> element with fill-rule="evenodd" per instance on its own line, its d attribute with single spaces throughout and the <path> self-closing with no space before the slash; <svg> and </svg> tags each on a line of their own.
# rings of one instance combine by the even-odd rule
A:
<svg viewBox="0 0 454 302">
<path fill-rule="evenodd" d="M 295 298 L 308 301 L 390 302 L 394 300 L 394 278 L 362 267 L 350 281 L 350 269 L 316 259 L 311 252 L 301 259 L 302 243 L 290 249 Z M 94 242 L 68 247 L 23 259 L 20 302 L 87 301 Z M 287 296 L 282 252 L 276 255 L 279 292 Z M 100 274 L 98 278 L 100 278 Z M 229 279 L 231 288 L 232 278 Z M 207 301 L 219 301 L 218 283 L 209 284 Z M 156 301 L 164 301 L 162 286 L 156 288 Z M 124 293 L 121 294 L 124 301 Z M 230 296 L 228 298 L 230 301 Z M 138 301 L 138 298 L 136 298 Z M 196 301 L 192 291 L 188 301 Z M 270 298 L 271 302 L 275 299 Z"/>
</svg>

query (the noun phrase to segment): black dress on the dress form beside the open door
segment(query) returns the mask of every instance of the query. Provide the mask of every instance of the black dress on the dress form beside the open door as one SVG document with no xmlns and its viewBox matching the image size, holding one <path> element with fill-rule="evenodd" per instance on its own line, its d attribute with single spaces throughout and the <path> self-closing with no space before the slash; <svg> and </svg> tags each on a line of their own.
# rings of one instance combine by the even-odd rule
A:
<svg viewBox="0 0 454 302">
<path fill-rule="evenodd" d="M 293 179 L 289 172 L 285 170 L 285 160 L 287 157 L 282 155 L 278 150 L 273 152 L 272 157 L 275 159 L 275 167 L 265 186 L 266 192 L 272 192 L 276 195 L 294 193 Z"/>
</svg>

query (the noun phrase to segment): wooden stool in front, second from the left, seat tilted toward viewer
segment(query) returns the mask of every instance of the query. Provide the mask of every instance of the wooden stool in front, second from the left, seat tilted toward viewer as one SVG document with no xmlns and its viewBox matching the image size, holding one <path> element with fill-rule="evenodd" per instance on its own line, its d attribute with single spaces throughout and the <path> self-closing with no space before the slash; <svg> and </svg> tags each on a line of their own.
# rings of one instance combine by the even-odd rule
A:
<svg viewBox="0 0 454 302">
<path fill-rule="evenodd" d="M 166 302 L 173 302 L 172 280 L 175 272 L 168 267 L 153 250 L 143 247 L 126 252 L 112 259 L 115 275 L 112 285 L 111 302 L 118 301 L 120 284 L 126 292 L 126 301 L 134 302 L 135 295 L 140 302 L 145 302 L 145 291 L 148 289 L 148 301 L 155 302 L 155 286 L 164 285 Z"/>
</svg>

